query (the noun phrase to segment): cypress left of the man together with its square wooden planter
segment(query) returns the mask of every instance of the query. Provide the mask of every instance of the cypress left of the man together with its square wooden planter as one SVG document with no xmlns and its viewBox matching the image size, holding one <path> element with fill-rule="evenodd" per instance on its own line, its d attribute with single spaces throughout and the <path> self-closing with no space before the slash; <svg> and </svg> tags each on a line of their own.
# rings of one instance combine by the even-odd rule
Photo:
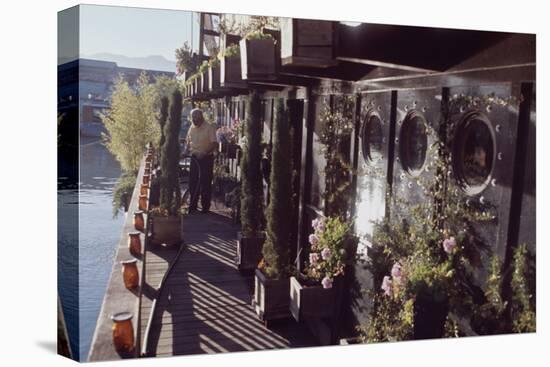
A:
<svg viewBox="0 0 550 367">
<path fill-rule="evenodd" d="M 170 100 L 170 115 L 164 127 L 166 141 L 162 145 L 160 173 L 160 206 L 151 210 L 152 240 L 169 245 L 180 244 L 181 191 L 179 183 L 179 132 L 181 128 L 182 98 L 175 90 Z"/>
</svg>

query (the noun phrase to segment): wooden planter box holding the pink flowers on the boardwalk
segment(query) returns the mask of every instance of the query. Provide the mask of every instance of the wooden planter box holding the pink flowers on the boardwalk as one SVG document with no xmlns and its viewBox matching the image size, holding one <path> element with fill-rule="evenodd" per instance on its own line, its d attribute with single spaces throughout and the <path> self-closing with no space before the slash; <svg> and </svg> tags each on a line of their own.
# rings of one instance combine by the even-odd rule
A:
<svg viewBox="0 0 550 367">
<path fill-rule="evenodd" d="M 332 317 L 335 314 L 338 287 L 342 284 L 335 279 L 332 288 L 304 286 L 296 277 L 290 278 L 290 312 L 296 321 L 304 318 Z"/>
</svg>

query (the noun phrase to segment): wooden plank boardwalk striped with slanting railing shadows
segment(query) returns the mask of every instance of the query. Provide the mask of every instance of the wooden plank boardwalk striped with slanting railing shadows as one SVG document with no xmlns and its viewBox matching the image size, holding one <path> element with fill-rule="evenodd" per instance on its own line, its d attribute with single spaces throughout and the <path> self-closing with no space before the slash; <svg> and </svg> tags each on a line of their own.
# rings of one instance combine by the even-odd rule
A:
<svg viewBox="0 0 550 367">
<path fill-rule="evenodd" d="M 226 211 L 187 215 L 183 229 L 185 245 L 175 263 L 176 248 L 151 248 L 146 254 L 142 334 L 157 298 L 144 348 L 148 356 L 317 345 L 293 320 L 270 329 L 258 320 L 250 305 L 252 276 L 240 274 L 234 264 L 238 228 Z"/>
</svg>

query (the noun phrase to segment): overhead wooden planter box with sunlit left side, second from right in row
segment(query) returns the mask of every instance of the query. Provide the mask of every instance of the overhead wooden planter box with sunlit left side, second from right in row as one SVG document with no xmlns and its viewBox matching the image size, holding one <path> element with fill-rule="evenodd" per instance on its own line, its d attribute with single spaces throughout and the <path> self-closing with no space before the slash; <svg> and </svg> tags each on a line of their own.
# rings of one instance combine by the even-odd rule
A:
<svg viewBox="0 0 550 367">
<path fill-rule="evenodd" d="M 241 76 L 244 80 L 277 79 L 277 53 L 273 39 L 242 39 Z"/>
</svg>

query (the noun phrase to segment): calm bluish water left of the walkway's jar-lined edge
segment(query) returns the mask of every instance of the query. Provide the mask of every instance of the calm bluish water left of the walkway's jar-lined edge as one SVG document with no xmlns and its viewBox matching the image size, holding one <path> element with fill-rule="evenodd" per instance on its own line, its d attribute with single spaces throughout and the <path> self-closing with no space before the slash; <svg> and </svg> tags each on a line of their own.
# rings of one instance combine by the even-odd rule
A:
<svg viewBox="0 0 550 367">
<path fill-rule="evenodd" d="M 86 360 L 125 214 L 112 216 L 112 191 L 121 174 L 118 162 L 97 138 L 81 138 L 80 152 L 80 192 L 64 190 L 58 195 L 59 208 L 66 213 L 59 224 L 63 235 L 58 261 L 66 269 L 78 266 L 79 279 L 76 282 L 70 272 L 61 271 L 58 278 L 73 352 L 80 348 L 80 360 Z M 63 230 L 75 229 L 77 221 L 78 232 Z"/>
</svg>

